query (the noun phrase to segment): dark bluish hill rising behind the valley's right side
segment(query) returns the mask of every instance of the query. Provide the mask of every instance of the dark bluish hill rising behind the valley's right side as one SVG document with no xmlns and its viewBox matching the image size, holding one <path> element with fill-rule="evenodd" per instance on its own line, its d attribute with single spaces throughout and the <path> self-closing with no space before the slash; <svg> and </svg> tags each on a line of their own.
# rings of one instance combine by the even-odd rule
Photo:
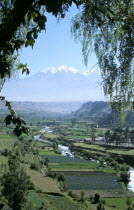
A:
<svg viewBox="0 0 134 210">
<path fill-rule="evenodd" d="M 86 102 L 78 110 L 72 112 L 71 116 L 80 119 L 96 118 L 99 125 L 103 126 L 120 123 L 116 113 L 104 101 Z M 125 123 L 128 126 L 134 126 L 134 112 L 126 112 Z"/>
</svg>

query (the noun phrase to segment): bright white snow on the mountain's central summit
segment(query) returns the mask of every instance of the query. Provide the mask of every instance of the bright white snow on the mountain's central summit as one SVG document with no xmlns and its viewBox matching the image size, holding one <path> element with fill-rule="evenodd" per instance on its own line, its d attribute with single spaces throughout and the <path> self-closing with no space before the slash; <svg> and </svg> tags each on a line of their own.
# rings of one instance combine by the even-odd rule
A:
<svg viewBox="0 0 134 210">
<path fill-rule="evenodd" d="M 58 72 L 72 72 L 72 73 L 78 73 L 79 71 L 75 69 L 74 67 L 68 67 L 65 65 L 59 66 L 59 67 L 47 67 L 45 70 L 42 70 L 41 72 L 43 73 L 58 73 Z"/>
</svg>

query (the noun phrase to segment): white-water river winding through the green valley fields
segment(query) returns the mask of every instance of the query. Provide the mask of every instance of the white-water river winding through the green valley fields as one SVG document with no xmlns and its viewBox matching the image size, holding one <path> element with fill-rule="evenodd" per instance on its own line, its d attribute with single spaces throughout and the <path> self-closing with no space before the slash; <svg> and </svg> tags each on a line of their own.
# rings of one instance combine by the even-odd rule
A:
<svg viewBox="0 0 134 210">
<path fill-rule="evenodd" d="M 49 128 L 49 126 L 45 126 L 44 128 L 42 128 L 42 130 L 45 130 L 48 133 L 52 133 L 53 132 L 52 129 Z M 34 139 L 36 141 L 41 141 L 41 142 L 49 143 L 49 144 L 52 145 L 52 142 L 40 138 L 40 135 L 34 136 Z M 70 157 L 74 157 L 74 153 L 71 152 L 71 150 L 69 149 L 68 146 L 64 146 L 62 144 L 59 144 L 58 148 L 61 150 L 63 156 L 69 155 Z M 130 182 L 129 182 L 128 186 L 127 186 L 127 189 L 132 191 L 132 192 L 134 192 L 134 168 L 131 168 L 129 170 L 129 173 L 130 173 Z"/>
</svg>

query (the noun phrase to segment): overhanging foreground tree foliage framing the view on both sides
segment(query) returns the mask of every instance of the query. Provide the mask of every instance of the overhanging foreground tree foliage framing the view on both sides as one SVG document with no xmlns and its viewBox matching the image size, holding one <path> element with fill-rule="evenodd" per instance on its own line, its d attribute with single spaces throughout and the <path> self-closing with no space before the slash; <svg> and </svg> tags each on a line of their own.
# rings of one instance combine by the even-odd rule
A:
<svg viewBox="0 0 134 210">
<path fill-rule="evenodd" d="M 38 34 L 46 29 L 45 13 L 65 18 L 73 3 L 82 6 L 82 12 L 72 21 L 72 33 L 82 42 L 85 63 L 89 49 L 93 49 L 112 107 L 119 113 L 127 106 L 134 108 L 132 0 L 1 0 L 0 90 L 17 70 L 29 74 L 27 64 L 18 62 L 18 52 L 23 46 L 33 48 Z M 4 97 L 0 99 L 10 110 L 8 123 L 15 124 L 15 134 L 27 132 L 24 122 L 16 120 L 11 104 Z"/>
</svg>

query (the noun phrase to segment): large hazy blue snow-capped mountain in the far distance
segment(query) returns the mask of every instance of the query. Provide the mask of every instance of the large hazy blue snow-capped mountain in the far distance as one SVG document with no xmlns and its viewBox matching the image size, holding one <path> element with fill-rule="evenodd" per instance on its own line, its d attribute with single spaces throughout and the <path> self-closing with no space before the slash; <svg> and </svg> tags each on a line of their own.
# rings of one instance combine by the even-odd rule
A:
<svg viewBox="0 0 134 210">
<path fill-rule="evenodd" d="M 99 71 L 79 72 L 73 67 L 48 67 L 25 79 L 7 81 L 2 90 L 13 101 L 104 100 Z"/>
</svg>

